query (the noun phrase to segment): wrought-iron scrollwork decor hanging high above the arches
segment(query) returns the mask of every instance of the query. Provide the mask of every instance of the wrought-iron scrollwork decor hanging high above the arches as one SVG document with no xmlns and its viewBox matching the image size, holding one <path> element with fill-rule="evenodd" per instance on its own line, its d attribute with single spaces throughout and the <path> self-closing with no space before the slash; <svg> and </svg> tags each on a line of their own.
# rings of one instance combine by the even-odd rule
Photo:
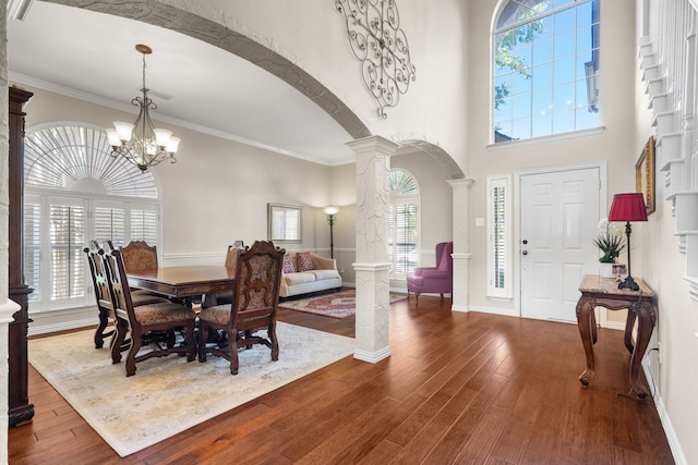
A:
<svg viewBox="0 0 698 465">
<path fill-rule="evenodd" d="M 361 61 L 361 75 L 378 102 L 378 115 L 395 107 L 416 81 L 407 36 L 400 29 L 395 0 L 335 0 L 345 15 L 351 51 Z"/>
</svg>

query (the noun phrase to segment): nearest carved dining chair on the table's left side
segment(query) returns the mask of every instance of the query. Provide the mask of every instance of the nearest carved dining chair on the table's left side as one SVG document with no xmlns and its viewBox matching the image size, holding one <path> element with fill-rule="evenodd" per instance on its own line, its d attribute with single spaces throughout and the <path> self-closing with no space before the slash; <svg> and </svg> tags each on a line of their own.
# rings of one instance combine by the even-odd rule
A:
<svg viewBox="0 0 698 465">
<path fill-rule="evenodd" d="M 131 333 L 131 347 L 127 355 L 127 377 L 135 375 L 136 364 L 152 357 L 164 357 L 173 353 L 185 354 L 186 362 L 196 358 L 194 323 L 196 314 L 189 307 L 173 302 L 160 302 L 135 306 L 127 281 L 127 271 L 120 250 L 99 250 L 108 273 L 109 291 L 117 318 L 115 344 L 121 345 L 123 336 Z M 155 336 L 151 336 L 155 333 Z M 165 339 L 161 334 L 169 334 Z M 176 339 L 181 333 L 183 341 Z M 149 352 L 141 353 L 147 345 Z M 121 362 L 118 354 L 115 363 Z"/>
</svg>

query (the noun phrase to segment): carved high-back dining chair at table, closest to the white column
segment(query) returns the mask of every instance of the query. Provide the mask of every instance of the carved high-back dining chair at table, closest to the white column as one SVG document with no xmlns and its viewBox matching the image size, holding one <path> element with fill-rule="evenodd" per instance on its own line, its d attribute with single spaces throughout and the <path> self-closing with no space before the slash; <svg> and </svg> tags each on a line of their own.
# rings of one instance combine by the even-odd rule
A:
<svg viewBox="0 0 698 465">
<path fill-rule="evenodd" d="M 257 241 L 238 255 L 232 303 L 202 308 L 198 314 L 198 362 L 206 362 L 207 353 L 225 357 L 230 360 L 230 372 L 237 375 L 238 350 L 252 348 L 253 344 L 266 345 L 272 350 L 272 360 L 278 360 L 276 314 L 284 254 L 286 250 L 274 243 Z M 225 336 L 209 342 L 210 330 Z"/>
</svg>

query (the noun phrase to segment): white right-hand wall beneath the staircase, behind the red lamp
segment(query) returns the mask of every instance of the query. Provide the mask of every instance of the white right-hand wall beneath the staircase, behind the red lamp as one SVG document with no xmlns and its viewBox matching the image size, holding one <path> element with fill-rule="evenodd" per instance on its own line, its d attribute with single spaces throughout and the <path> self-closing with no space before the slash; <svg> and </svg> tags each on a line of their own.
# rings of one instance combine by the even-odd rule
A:
<svg viewBox="0 0 698 465">
<path fill-rule="evenodd" d="M 642 30 L 643 4 L 647 2 L 636 1 L 635 57 L 639 37 L 647 33 Z M 654 20 L 648 17 L 649 21 Z M 636 59 L 633 150 L 637 156 L 649 135 L 654 134 L 640 73 Z M 683 77 L 674 76 L 678 79 Z M 681 100 L 679 96 L 676 98 Z M 659 350 L 651 352 L 648 357 L 658 392 L 655 403 L 661 407 L 664 429 L 677 463 L 694 464 L 698 463 L 698 442 L 695 439 L 698 431 L 698 302 L 689 297 L 688 283 L 684 279 L 686 255 L 678 250 L 672 203 L 664 200 L 664 175 L 661 171 L 655 173 L 657 211 L 642 224 L 639 234 L 636 235 L 633 228 L 633 243 L 638 244 L 637 249 L 634 248 L 633 267 L 635 269 L 635 264 L 639 264 L 642 278 L 658 295 L 658 326 L 650 347 Z"/>
</svg>

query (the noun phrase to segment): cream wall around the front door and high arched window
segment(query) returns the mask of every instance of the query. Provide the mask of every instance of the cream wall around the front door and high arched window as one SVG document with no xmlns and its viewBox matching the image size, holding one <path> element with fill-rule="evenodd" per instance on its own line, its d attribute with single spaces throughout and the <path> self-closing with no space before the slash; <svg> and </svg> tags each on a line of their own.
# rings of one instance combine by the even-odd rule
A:
<svg viewBox="0 0 698 465">
<path fill-rule="evenodd" d="M 605 126 L 601 134 L 577 138 L 540 140 L 533 144 L 507 144 L 506 147 L 489 148 L 490 138 L 490 44 L 491 24 L 498 0 L 482 0 L 470 3 L 469 57 L 470 109 L 479 118 L 470 124 L 468 175 L 476 180 L 471 194 L 471 269 L 486 267 L 486 231 L 476 227 L 476 218 L 486 218 L 485 186 L 489 175 L 514 174 L 517 170 L 551 166 L 605 161 L 607 163 L 609 199 L 614 193 L 635 189 L 635 150 L 633 120 L 628 118 L 634 106 L 634 89 L 627 76 L 635 75 L 635 37 L 633 34 L 633 0 L 601 2 L 601 78 L 600 105 L 601 124 Z M 516 193 L 515 193 L 516 194 Z M 516 205 L 517 198 L 513 198 Z M 515 228 L 518 224 L 515 224 Z M 517 231 L 514 237 L 518 237 Z M 634 237 L 635 238 L 635 237 Z M 518 246 L 514 244 L 514 253 Z M 514 262 L 517 262 L 516 260 Z M 635 272 L 634 268 L 634 272 Z M 639 274 L 639 269 L 637 270 Z M 519 280 L 519 270 L 515 269 L 514 280 Z M 470 276 L 470 304 L 473 307 L 497 307 L 512 311 L 517 298 L 509 303 L 492 302 L 486 296 L 486 273 L 473 272 Z"/>
</svg>

